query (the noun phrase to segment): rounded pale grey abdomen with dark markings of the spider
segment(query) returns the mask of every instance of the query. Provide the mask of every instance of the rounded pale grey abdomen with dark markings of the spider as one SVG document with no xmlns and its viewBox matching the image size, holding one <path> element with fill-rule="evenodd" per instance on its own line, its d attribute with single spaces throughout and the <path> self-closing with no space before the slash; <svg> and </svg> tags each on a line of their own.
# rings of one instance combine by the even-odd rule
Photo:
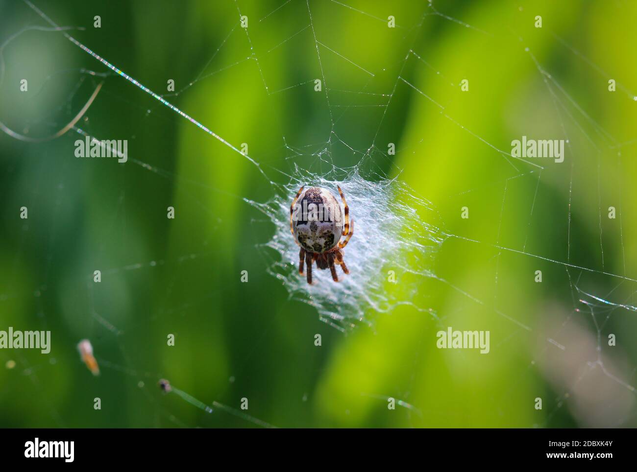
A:
<svg viewBox="0 0 637 472">
<path fill-rule="evenodd" d="M 304 191 L 292 209 L 292 232 L 299 246 L 311 253 L 336 247 L 343 234 L 343 212 L 336 197 L 325 188 Z"/>
</svg>

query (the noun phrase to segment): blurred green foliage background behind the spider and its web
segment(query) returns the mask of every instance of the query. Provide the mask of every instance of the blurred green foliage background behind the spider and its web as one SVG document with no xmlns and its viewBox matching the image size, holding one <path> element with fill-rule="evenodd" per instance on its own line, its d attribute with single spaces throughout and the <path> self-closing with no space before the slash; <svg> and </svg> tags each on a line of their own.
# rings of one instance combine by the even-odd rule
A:
<svg viewBox="0 0 637 472">
<path fill-rule="evenodd" d="M 254 165 L 117 75 L 86 73 L 108 69 L 60 32 L 24 31 L 2 50 L 0 121 L 52 134 L 104 81 L 78 126 L 128 139 L 129 162 L 75 158 L 73 132 L 0 134 L 0 330 L 52 331 L 47 356 L 0 350 L 0 426 L 254 426 L 162 395 L 162 377 L 206 404 L 248 398 L 247 413 L 276 426 L 637 426 L 634 312 L 598 303 L 591 314 L 577 290 L 633 302 L 637 3 L 310 0 L 320 64 L 304 0 L 36 4 L 85 27 L 69 33 L 151 90 L 175 80 L 183 91 L 166 99 L 247 142 L 276 183 L 294 165 L 354 166 L 375 143 L 375 172 L 433 202 L 445 232 L 480 243 L 445 240 L 438 279 L 415 297 L 401 274 L 388 288 L 440 322 L 403 306 L 334 330 L 266 273 L 258 246 L 273 227 L 243 198 L 265 202 L 275 186 Z M 45 25 L 0 1 L 1 43 Z M 314 90 L 322 74 L 331 107 Z M 508 163 L 497 149 L 522 135 L 569 139 L 564 162 L 541 162 L 539 179 Z M 285 143 L 329 154 L 291 157 Z M 441 326 L 490 330 L 490 353 L 436 349 Z M 99 377 L 80 362 L 82 338 Z M 389 410 L 389 397 L 413 408 Z"/>
</svg>

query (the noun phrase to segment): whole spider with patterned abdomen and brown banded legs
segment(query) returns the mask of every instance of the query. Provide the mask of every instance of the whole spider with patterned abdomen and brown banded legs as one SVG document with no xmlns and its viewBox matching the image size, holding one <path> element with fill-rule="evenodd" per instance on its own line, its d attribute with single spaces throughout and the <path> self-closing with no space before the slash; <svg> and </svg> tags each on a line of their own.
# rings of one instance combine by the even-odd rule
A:
<svg viewBox="0 0 637 472">
<path fill-rule="evenodd" d="M 345 274 L 350 271 L 343 261 L 341 249 L 354 234 L 354 219 L 350 227 L 350 208 L 340 187 L 338 193 L 345 207 L 345 225 L 341 206 L 329 190 L 311 187 L 303 192 L 301 187 L 290 206 L 290 231 L 294 241 L 301 247 L 299 251 L 299 274 L 303 275 L 303 263 L 308 267 L 308 284 L 312 283 L 312 264 L 332 272 L 332 279 L 338 282 L 334 263 L 341 266 Z M 298 202 L 298 203 L 297 203 Z M 341 241 L 341 236 L 345 237 Z"/>
</svg>

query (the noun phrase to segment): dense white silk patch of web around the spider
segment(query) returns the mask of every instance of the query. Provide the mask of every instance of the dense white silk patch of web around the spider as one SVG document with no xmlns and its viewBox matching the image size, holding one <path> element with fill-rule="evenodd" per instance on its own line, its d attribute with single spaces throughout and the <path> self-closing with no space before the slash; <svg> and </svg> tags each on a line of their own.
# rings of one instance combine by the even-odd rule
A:
<svg viewBox="0 0 637 472">
<path fill-rule="evenodd" d="M 297 154 L 294 149 L 289 151 Z M 278 186 L 276 196 L 265 204 L 249 200 L 276 228 L 272 239 L 263 245 L 278 254 L 273 259 L 267 251 L 264 253 L 270 261 L 269 274 L 282 281 L 290 298 L 309 303 L 318 310 L 323 321 L 341 331 L 360 322 L 370 324 L 374 314 L 389 313 L 401 304 L 429 311 L 403 295 L 392 295 L 387 285 L 395 283 L 396 271 L 431 277 L 429 268 L 442 242 L 441 233 L 436 226 L 426 223 L 420 214 L 435 219 L 433 207 L 413 196 L 410 188 L 398 179 L 369 181 L 361 176 L 358 168 L 341 172 L 344 179 L 337 181 L 329 179 L 333 171 L 320 176 L 299 168 L 290 183 Z M 298 260 L 299 250 L 290 239 L 290 222 L 285 209 L 289 209 L 289 195 L 295 195 L 304 183 L 323 188 L 336 188 L 340 184 L 350 208 L 357 209 L 357 214 L 352 217 L 364 224 L 356 226 L 359 239 L 356 249 L 347 251 L 348 267 L 358 274 L 357 277 L 341 277 L 340 283 L 334 285 L 327 284 L 325 275 L 319 274 L 315 275 L 319 282 L 308 286 L 304 277 L 299 277 L 296 266 L 290 263 Z M 418 279 L 407 282 L 408 293 L 419 289 Z"/>
</svg>

